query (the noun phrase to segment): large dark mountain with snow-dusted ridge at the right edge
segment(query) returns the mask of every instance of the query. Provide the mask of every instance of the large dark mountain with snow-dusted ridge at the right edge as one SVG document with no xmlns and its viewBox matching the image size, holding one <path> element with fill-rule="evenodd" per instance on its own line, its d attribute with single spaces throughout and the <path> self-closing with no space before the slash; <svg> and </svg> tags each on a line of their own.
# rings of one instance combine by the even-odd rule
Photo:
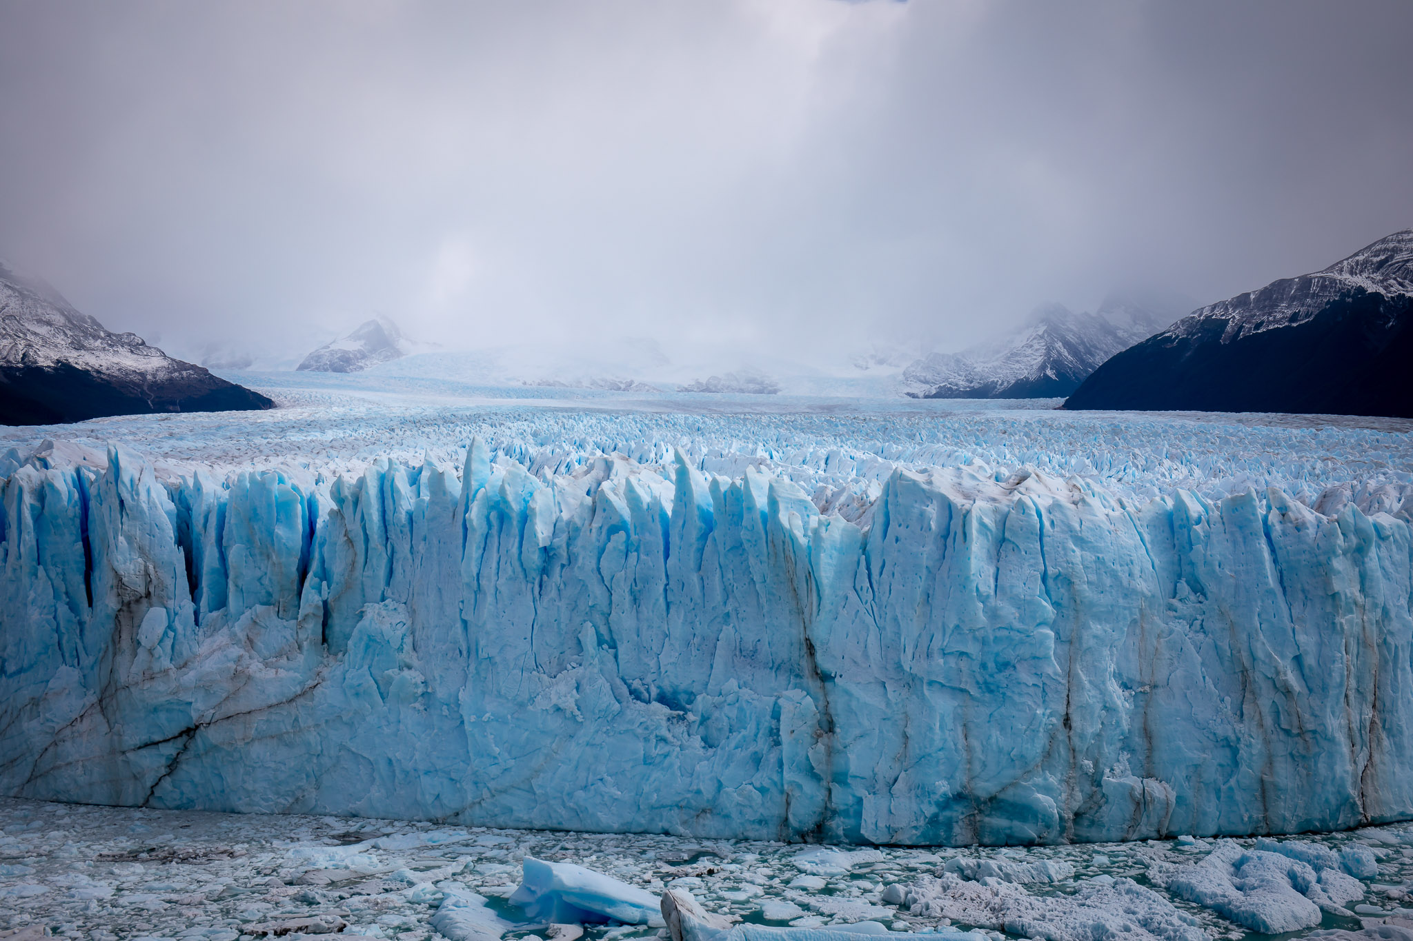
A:
<svg viewBox="0 0 1413 941">
<path fill-rule="evenodd" d="M 1099 367 L 1071 409 L 1413 418 L 1413 229 L 1208 305 Z"/>
</svg>

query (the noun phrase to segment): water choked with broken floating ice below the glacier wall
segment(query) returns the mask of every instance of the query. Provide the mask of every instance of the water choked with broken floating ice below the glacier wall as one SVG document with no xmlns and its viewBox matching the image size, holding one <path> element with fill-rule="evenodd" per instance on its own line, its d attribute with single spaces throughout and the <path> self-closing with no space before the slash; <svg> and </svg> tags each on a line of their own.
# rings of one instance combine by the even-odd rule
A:
<svg viewBox="0 0 1413 941">
<path fill-rule="evenodd" d="M 1249 839 L 1236 842 L 1242 851 L 1255 848 Z M 1320 927 L 1371 928 L 1385 933 L 1383 941 L 1406 941 L 1389 933 L 1413 918 L 1413 907 L 1402 907 L 1410 904 L 1413 889 L 1413 828 L 1304 837 L 1301 842 L 1334 856 L 1359 846 L 1376 858 L 1376 875 L 1358 883 L 1361 896 L 1349 903 L 1351 910 L 1362 910 L 1324 911 Z M 801 889 L 794 885 L 801 878 L 796 865 L 801 848 L 779 842 L 0 799 L 0 931 L 28 925 L 90 941 L 236 941 L 324 920 L 342 923 L 343 934 L 401 941 L 435 938 L 432 931 L 452 941 L 568 938 L 572 931 L 509 903 L 524 858 L 531 856 L 592 869 L 644 894 L 668 887 L 691 892 L 712 921 L 728 928 L 852 933 L 859 930 L 852 925 L 868 920 L 894 933 L 979 933 L 969 935 L 974 941 L 999 941 L 1002 934 L 1096 941 L 1111 937 L 1105 931 L 1129 941 L 1255 941 L 1246 927 L 1170 894 L 1153 878 L 1198 868 L 1215 849 L 1201 839 L 1029 849 L 882 846 L 868 861 Z M 945 872 L 959 858 L 1061 863 L 1074 875 L 1044 885 L 985 876 L 964 880 Z M 657 931 L 649 924 L 585 925 L 586 941 L 647 941 Z"/>
</svg>

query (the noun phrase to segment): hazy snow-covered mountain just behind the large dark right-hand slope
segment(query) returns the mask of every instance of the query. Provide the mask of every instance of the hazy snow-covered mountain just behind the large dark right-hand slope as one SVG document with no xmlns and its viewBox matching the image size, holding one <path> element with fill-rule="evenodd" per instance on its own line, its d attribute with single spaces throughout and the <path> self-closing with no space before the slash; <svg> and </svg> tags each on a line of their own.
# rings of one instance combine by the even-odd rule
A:
<svg viewBox="0 0 1413 941">
<path fill-rule="evenodd" d="M 1095 313 L 1051 303 L 1016 333 L 961 353 L 933 353 L 903 371 L 907 395 L 928 399 L 1048 398 L 1072 392 L 1095 368 L 1173 322 L 1160 305 L 1113 296 Z"/>
</svg>

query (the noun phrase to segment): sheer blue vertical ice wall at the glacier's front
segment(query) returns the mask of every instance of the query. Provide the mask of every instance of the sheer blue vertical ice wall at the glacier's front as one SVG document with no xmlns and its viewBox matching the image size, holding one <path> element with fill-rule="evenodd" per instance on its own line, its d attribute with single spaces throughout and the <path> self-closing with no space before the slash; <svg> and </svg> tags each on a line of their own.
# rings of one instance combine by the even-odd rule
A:
<svg viewBox="0 0 1413 941">
<path fill-rule="evenodd" d="M 0 463 L 6 794 L 879 844 L 1413 815 L 1407 504 L 974 461 L 851 521 L 480 440 L 332 481 Z"/>
</svg>

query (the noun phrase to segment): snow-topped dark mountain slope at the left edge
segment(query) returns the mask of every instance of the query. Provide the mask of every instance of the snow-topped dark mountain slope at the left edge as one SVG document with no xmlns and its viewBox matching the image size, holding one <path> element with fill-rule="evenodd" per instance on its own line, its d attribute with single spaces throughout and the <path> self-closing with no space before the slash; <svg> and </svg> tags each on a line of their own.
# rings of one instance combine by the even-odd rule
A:
<svg viewBox="0 0 1413 941">
<path fill-rule="evenodd" d="M 0 422 L 48 425 L 273 405 L 171 358 L 134 333 L 105 329 L 49 285 L 0 265 Z"/>
</svg>

